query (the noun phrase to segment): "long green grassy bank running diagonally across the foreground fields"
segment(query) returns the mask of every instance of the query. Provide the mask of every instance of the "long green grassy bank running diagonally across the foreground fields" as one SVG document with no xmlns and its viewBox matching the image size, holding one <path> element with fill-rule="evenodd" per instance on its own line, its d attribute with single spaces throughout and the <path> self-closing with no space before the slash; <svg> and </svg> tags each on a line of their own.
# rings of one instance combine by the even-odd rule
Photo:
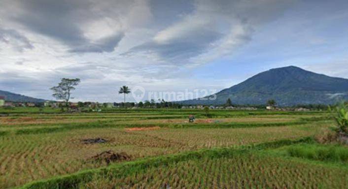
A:
<svg viewBox="0 0 348 189">
<path fill-rule="evenodd" d="M 165 155 L 156 158 L 143 158 L 130 162 L 116 163 L 104 168 L 90 169 L 80 171 L 74 174 L 54 177 L 48 180 L 35 181 L 24 185 L 21 189 L 66 189 L 78 188 L 80 183 L 89 182 L 96 174 L 112 175 L 114 177 L 132 174 L 134 172 L 146 170 L 148 167 L 168 165 L 170 163 L 186 161 L 194 158 L 221 158 L 229 157 L 235 154 L 247 153 L 251 150 L 263 150 L 269 148 L 278 148 L 285 145 L 312 142 L 311 137 L 302 138 L 299 140 L 279 140 L 256 145 L 239 146 L 232 148 L 216 148 L 210 150 L 198 150 L 185 152 L 175 155 Z"/>
</svg>

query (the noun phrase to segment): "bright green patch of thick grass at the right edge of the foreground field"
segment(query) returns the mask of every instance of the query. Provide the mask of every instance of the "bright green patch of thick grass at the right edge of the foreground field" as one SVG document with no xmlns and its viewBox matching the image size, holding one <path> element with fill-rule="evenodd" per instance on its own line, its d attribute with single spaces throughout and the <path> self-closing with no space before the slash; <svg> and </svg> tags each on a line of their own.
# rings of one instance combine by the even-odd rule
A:
<svg viewBox="0 0 348 189">
<path fill-rule="evenodd" d="M 337 145 L 296 145 L 287 148 L 291 157 L 320 161 L 348 162 L 348 149 Z"/>
</svg>

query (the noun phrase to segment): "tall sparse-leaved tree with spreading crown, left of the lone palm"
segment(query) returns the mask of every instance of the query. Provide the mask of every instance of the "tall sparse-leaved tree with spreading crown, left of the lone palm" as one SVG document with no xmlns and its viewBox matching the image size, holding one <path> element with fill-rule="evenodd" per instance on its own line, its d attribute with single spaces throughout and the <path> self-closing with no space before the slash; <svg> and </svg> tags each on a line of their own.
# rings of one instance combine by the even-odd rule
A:
<svg viewBox="0 0 348 189">
<path fill-rule="evenodd" d="M 71 91 L 75 90 L 74 86 L 77 86 L 80 83 L 80 79 L 69 79 L 63 78 L 58 86 L 52 87 L 51 90 L 54 92 L 53 97 L 57 100 L 64 100 L 67 110 L 69 109 L 69 100 L 71 97 Z"/>
</svg>

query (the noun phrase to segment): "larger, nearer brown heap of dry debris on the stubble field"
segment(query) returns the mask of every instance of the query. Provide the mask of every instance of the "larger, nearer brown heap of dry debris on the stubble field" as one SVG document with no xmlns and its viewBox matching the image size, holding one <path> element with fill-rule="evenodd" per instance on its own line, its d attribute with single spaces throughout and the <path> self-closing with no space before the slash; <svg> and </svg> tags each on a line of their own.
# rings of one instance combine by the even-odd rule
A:
<svg viewBox="0 0 348 189">
<path fill-rule="evenodd" d="M 131 159 L 131 156 L 129 156 L 125 152 L 116 153 L 112 150 L 104 151 L 100 154 L 97 154 L 96 156 L 93 156 L 91 159 L 95 161 L 105 161 L 107 164 L 110 162 L 115 161 L 127 161 Z"/>
</svg>

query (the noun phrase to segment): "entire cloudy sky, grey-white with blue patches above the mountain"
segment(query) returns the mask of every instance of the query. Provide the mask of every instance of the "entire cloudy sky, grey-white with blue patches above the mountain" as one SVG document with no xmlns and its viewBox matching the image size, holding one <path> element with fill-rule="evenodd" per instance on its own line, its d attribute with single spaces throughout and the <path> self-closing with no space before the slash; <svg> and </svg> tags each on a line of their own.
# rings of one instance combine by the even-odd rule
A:
<svg viewBox="0 0 348 189">
<path fill-rule="evenodd" d="M 347 0 L 0 0 L 4 91 L 53 99 L 77 77 L 74 101 L 121 101 L 287 65 L 348 78 Z"/>
</svg>

